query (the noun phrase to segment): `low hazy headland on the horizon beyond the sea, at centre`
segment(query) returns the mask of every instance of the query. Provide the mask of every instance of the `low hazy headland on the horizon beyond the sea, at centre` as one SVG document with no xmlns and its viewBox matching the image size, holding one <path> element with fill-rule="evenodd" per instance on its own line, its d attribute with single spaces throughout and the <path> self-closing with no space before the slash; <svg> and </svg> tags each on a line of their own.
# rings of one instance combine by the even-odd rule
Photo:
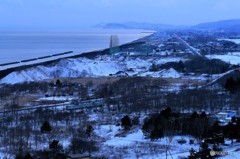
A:
<svg viewBox="0 0 240 159">
<path fill-rule="evenodd" d="M 149 30 L 169 30 L 169 29 L 179 29 L 182 26 L 166 25 L 166 24 L 150 24 L 150 23 L 101 23 L 94 26 L 95 28 L 102 29 L 149 29 Z"/>
</svg>

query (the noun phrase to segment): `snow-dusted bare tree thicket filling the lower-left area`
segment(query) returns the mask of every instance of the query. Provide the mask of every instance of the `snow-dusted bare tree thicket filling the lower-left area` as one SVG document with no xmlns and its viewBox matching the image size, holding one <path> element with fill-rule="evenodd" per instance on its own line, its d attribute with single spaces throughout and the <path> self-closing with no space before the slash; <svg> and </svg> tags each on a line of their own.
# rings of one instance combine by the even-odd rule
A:
<svg viewBox="0 0 240 159">
<path fill-rule="evenodd" d="M 4 145 L 3 150 L 9 154 L 45 149 L 52 140 L 71 141 L 72 137 L 86 136 L 81 131 L 88 123 L 83 111 L 37 109 L 7 112 L 0 116 L 0 145 Z M 50 129 L 44 129 L 46 123 Z"/>
</svg>

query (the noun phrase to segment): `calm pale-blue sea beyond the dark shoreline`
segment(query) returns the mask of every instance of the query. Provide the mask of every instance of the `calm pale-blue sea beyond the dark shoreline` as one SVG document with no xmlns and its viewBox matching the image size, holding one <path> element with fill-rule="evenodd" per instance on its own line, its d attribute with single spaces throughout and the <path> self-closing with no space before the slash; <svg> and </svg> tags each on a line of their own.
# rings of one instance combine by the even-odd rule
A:
<svg viewBox="0 0 240 159">
<path fill-rule="evenodd" d="M 0 32 L 0 64 L 65 51 L 83 53 L 108 48 L 111 35 L 118 35 L 120 44 L 124 44 L 149 33 L 143 30 Z"/>
</svg>

